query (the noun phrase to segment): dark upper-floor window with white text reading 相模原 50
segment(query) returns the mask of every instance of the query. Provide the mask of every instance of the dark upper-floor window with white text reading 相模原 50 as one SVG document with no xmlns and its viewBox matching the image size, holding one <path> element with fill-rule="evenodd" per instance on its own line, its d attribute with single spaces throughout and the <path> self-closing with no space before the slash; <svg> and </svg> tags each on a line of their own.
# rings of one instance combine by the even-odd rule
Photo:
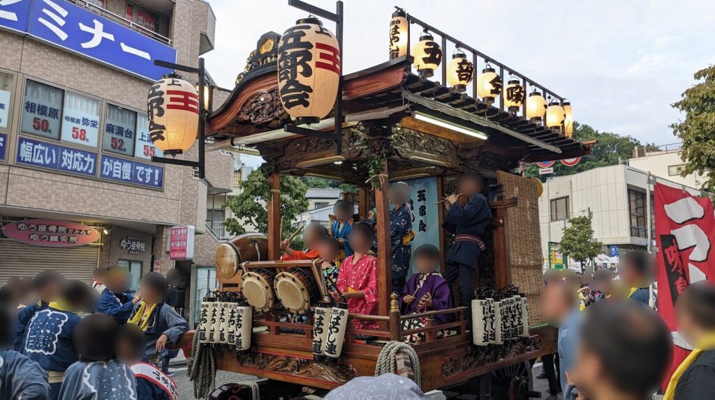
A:
<svg viewBox="0 0 715 400">
<path fill-rule="evenodd" d="M 62 89 L 28 80 L 25 85 L 21 130 L 31 135 L 59 140 L 63 100 Z"/>
</svg>

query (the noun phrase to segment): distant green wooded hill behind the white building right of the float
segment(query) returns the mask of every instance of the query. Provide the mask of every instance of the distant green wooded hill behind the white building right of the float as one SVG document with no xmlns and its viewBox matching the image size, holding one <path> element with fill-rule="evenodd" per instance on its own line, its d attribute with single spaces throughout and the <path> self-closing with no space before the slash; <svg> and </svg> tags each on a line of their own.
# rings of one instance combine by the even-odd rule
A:
<svg viewBox="0 0 715 400">
<path fill-rule="evenodd" d="M 611 132 L 599 132 L 585 123 L 573 123 L 573 138 L 578 141 L 598 140 L 593 145 L 593 152 L 573 167 L 566 167 L 560 162 L 553 165 L 553 174 L 548 176 L 563 176 L 580 173 L 593 168 L 616 165 L 618 161 L 625 161 L 633 156 L 633 148 L 641 145 L 641 142 L 631 136 L 616 135 Z M 526 168 L 526 176 L 536 178 L 546 178 L 546 175 L 538 174 L 539 167 L 536 164 Z"/>
</svg>

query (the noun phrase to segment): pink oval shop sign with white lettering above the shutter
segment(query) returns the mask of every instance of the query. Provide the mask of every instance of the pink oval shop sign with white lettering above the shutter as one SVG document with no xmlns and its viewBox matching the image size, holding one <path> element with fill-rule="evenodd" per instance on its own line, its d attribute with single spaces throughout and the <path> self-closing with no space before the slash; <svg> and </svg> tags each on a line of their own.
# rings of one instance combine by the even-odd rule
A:
<svg viewBox="0 0 715 400">
<path fill-rule="evenodd" d="M 14 221 L 2 228 L 6 237 L 29 245 L 74 247 L 99 240 L 99 230 L 78 222 L 61 220 Z"/>
</svg>

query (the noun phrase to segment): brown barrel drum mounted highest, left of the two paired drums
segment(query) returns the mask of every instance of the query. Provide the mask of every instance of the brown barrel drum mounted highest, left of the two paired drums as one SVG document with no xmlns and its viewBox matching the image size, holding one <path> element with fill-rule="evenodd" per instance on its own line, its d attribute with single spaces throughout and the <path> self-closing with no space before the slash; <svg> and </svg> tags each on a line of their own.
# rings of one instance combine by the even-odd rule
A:
<svg viewBox="0 0 715 400">
<path fill-rule="evenodd" d="M 219 277 L 230 280 L 240 270 L 242 262 L 268 260 L 268 237 L 258 232 L 234 237 L 217 247 L 215 260 Z"/>
</svg>

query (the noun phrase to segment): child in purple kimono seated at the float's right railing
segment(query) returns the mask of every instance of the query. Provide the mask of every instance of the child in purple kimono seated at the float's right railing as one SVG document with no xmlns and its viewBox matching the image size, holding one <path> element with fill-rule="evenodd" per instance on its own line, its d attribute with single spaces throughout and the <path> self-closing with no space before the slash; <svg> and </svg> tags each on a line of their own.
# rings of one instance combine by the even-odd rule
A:
<svg viewBox="0 0 715 400">
<path fill-rule="evenodd" d="M 452 308 L 449 283 L 440 275 L 440 250 L 435 245 L 420 245 L 415 250 L 415 272 L 400 294 L 400 312 L 412 314 Z M 450 314 L 435 315 L 435 324 L 450 322 Z"/>
</svg>

